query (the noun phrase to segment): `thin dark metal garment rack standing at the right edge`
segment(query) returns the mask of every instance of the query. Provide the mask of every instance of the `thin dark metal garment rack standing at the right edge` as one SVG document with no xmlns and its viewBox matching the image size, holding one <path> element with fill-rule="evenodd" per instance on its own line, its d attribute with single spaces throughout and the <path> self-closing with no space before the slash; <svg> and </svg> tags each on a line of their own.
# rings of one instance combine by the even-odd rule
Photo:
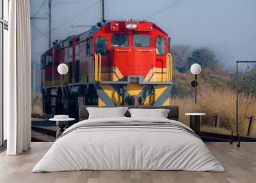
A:
<svg viewBox="0 0 256 183">
<path fill-rule="evenodd" d="M 230 143 L 233 143 L 233 136 L 234 134 L 237 135 L 237 147 L 240 147 L 240 132 L 239 132 L 239 128 L 238 128 L 238 109 L 239 109 L 239 103 L 238 103 L 238 95 L 239 95 L 239 76 L 238 76 L 238 65 L 239 63 L 256 63 L 256 61 L 236 61 L 236 131 L 232 131 L 231 132 L 231 139 L 230 139 Z"/>
</svg>

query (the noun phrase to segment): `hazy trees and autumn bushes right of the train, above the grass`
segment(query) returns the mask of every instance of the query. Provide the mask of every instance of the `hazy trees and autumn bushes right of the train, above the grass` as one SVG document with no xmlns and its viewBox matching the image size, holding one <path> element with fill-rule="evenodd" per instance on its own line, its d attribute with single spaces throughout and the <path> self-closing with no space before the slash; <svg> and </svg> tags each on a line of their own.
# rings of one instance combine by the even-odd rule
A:
<svg viewBox="0 0 256 183">
<path fill-rule="evenodd" d="M 173 60 L 173 95 L 184 97 L 193 95 L 190 83 L 193 74 L 189 68 L 193 63 L 202 67 L 202 73 L 198 77 L 200 86 L 213 88 L 214 90 L 236 90 L 236 73 L 228 72 L 218 60 L 216 53 L 207 47 L 194 49 L 189 45 L 173 45 L 171 49 Z M 235 62 L 234 62 L 235 64 Z M 246 93 L 250 97 L 256 97 L 256 67 L 247 68 L 239 72 L 239 92 Z"/>
</svg>

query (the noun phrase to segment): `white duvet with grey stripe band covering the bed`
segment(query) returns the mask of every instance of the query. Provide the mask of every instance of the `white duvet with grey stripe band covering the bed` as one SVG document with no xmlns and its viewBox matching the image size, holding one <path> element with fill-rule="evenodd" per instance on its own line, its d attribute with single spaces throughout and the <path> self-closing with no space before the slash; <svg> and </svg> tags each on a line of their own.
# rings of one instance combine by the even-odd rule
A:
<svg viewBox="0 0 256 183">
<path fill-rule="evenodd" d="M 170 122 L 163 118 L 84 120 L 57 139 L 32 172 L 72 170 L 225 171 L 204 142 L 193 134 L 168 127 L 91 127 L 93 122 Z M 72 131 L 74 130 L 74 131 Z"/>
</svg>

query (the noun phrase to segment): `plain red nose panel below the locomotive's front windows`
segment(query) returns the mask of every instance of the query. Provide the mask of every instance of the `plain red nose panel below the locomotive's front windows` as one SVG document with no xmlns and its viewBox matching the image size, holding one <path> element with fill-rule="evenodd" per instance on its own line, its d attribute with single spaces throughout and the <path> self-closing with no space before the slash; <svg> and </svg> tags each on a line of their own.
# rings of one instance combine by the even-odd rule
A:
<svg viewBox="0 0 256 183">
<path fill-rule="evenodd" d="M 151 48 L 113 48 L 113 66 L 123 77 L 145 77 L 154 66 L 155 55 Z"/>
</svg>

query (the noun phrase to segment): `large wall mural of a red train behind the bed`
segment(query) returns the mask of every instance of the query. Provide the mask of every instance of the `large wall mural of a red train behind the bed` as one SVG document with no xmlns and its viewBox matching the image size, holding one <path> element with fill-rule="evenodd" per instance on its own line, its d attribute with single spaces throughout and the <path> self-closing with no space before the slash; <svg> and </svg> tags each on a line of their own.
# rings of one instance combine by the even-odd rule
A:
<svg viewBox="0 0 256 183">
<path fill-rule="evenodd" d="M 31 1 L 32 140 L 55 141 L 49 118 L 69 115 L 72 125 L 80 105 L 177 105 L 180 122 L 205 113 L 202 136 L 227 138 L 236 128 L 236 60 L 256 60 L 248 2 L 227 10 L 212 1 Z M 194 63 L 202 68 L 197 83 Z M 255 75 L 255 63 L 239 68 L 239 130 L 250 138 Z"/>
</svg>

